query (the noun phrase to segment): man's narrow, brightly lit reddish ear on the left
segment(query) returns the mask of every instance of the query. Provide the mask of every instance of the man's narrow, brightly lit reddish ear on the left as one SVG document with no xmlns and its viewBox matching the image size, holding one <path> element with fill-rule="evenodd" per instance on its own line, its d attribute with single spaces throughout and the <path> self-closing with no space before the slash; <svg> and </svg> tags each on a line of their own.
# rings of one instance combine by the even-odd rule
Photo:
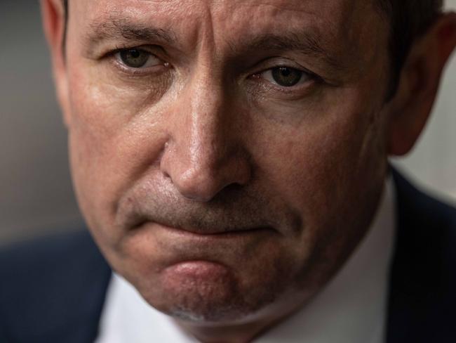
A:
<svg viewBox="0 0 456 343">
<path fill-rule="evenodd" d="M 68 124 L 69 97 L 65 57 L 65 10 L 62 0 L 41 0 L 41 17 L 43 30 L 48 41 L 53 65 L 53 76 L 57 98 L 64 114 L 65 124 Z"/>
</svg>

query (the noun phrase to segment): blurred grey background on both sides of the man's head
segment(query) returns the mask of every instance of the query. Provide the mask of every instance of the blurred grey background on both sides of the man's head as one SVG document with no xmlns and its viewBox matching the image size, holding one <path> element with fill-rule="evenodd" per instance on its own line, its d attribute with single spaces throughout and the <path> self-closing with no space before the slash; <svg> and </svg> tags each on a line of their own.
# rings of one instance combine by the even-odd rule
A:
<svg viewBox="0 0 456 343">
<path fill-rule="evenodd" d="M 456 0 L 447 8 L 456 10 Z M 39 1 L 0 0 L 0 245 L 80 228 Z M 413 153 L 393 163 L 456 204 L 456 54 Z"/>
</svg>

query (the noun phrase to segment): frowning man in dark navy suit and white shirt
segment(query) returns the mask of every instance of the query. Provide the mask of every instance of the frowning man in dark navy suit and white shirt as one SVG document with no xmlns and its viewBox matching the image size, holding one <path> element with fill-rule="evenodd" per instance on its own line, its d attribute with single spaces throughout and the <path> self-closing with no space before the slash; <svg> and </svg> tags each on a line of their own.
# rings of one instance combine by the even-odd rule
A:
<svg viewBox="0 0 456 343">
<path fill-rule="evenodd" d="M 454 13 L 41 2 L 76 195 L 116 274 L 83 234 L 4 253 L 7 342 L 455 341 L 455 210 L 387 162 L 424 127 Z"/>
</svg>

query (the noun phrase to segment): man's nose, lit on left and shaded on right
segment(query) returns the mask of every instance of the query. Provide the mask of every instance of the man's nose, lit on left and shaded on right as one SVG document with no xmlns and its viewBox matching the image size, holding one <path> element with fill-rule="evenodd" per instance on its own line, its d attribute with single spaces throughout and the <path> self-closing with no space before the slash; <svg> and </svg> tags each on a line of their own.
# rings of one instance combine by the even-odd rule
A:
<svg viewBox="0 0 456 343">
<path fill-rule="evenodd" d="M 239 113 L 223 87 L 194 77 L 170 115 L 161 171 L 185 198 L 208 202 L 228 186 L 244 186 L 251 166 Z M 230 108 L 231 107 L 231 108 Z"/>
</svg>

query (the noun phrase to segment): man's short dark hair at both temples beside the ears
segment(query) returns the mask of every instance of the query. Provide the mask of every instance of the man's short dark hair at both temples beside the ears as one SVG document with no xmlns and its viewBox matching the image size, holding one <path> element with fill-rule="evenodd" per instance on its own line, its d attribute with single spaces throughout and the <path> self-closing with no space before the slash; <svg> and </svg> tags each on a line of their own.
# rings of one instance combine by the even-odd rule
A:
<svg viewBox="0 0 456 343">
<path fill-rule="evenodd" d="M 398 86 L 399 75 L 410 47 L 421 34 L 432 25 L 442 11 L 443 0 L 373 0 L 378 1 L 381 10 L 387 15 L 390 23 L 389 56 L 390 83 L 388 98 L 394 96 Z M 65 9 L 65 39 L 68 20 L 68 0 L 63 0 Z"/>
</svg>

